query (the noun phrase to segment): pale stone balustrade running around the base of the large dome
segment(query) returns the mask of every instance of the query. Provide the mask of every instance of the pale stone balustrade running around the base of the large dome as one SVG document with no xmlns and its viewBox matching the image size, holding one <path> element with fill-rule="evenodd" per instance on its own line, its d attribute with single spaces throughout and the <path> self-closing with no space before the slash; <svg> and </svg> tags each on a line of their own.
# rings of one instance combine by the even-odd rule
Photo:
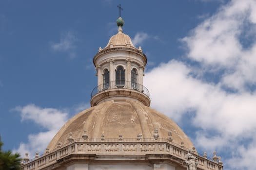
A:
<svg viewBox="0 0 256 170">
<path fill-rule="evenodd" d="M 43 154 L 41 157 L 30 160 L 21 166 L 21 170 L 38 170 L 58 163 L 58 160 L 72 154 L 98 155 L 171 155 L 169 158 L 185 161 L 189 149 L 170 142 L 167 139 L 75 139 L 62 145 L 60 148 Z M 197 154 L 197 170 L 223 170 L 223 166 Z M 152 156 L 151 156 L 152 157 Z M 154 156 L 153 156 L 154 157 Z"/>
</svg>

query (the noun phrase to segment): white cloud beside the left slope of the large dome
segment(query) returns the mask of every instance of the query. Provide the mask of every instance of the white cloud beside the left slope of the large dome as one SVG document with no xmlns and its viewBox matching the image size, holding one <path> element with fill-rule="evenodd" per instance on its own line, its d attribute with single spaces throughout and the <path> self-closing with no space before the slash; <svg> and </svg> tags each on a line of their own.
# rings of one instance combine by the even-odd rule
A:
<svg viewBox="0 0 256 170">
<path fill-rule="evenodd" d="M 30 134 L 28 143 L 20 143 L 20 147 L 15 149 L 23 156 L 25 153 L 35 155 L 36 152 L 43 152 L 53 136 L 59 131 L 68 119 L 68 113 L 54 108 L 41 108 L 34 104 L 28 104 L 23 107 L 16 107 L 12 110 L 20 112 L 21 120 L 31 120 L 45 131 L 38 134 Z"/>
</svg>

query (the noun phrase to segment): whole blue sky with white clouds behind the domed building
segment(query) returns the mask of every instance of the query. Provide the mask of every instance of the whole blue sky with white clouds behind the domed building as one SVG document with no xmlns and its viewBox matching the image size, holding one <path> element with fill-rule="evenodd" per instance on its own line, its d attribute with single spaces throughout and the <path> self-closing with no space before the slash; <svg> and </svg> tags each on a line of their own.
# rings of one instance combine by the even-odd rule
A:
<svg viewBox="0 0 256 170">
<path fill-rule="evenodd" d="M 0 136 L 42 153 L 89 107 L 98 47 L 124 33 L 148 57 L 151 107 L 226 170 L 256 169 L 255 0 L 0 1 Z"/>
</svg>

